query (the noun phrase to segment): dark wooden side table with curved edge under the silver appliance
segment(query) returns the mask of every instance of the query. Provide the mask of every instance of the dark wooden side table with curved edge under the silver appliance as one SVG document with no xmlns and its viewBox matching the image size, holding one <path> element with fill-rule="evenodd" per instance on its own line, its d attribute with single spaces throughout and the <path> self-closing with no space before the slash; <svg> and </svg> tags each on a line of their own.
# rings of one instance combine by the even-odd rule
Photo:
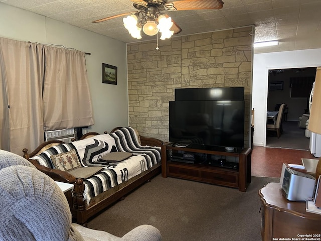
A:
<svg viewBox="0 0 321 241">
<path fill-rule="evenodd" d="M 305 202 L 287 200 L 281 193 L 279 183 L 268 183 L 258 194 L 262 202 L 263 241 L 321 240 L 321 215 L 306 212 Z"/>
</svg>

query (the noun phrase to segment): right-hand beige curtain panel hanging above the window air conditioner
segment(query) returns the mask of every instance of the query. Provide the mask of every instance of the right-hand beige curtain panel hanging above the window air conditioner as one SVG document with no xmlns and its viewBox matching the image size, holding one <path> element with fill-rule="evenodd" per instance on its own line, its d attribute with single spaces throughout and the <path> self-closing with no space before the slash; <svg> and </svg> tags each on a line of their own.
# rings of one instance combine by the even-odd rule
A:
<svg viewBox="0 0 321 241">
<path fill-rule="evenodd" d="M 45 59 L 45 130 L 93 125 L 84 53 L 46 46 Z"/>
</svg>

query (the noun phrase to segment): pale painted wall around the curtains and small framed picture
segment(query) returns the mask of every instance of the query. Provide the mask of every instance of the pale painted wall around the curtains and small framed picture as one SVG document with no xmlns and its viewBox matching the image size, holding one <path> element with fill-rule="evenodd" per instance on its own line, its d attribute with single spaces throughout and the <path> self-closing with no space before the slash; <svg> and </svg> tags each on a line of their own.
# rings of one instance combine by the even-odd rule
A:
<svg viewBox="0 0 321 241">
<path fill-rule="evenodd" d="M 89 131 L 103 133 L 128 126 L 125 43 L 3 3 L 0 3 L 0 37 L 63 45 L 91 53 L 86 55 L 86 68 L 95 124 Z M 117 66 L 117 85 L 101 82 L 102 63 Z"/>
</svg>

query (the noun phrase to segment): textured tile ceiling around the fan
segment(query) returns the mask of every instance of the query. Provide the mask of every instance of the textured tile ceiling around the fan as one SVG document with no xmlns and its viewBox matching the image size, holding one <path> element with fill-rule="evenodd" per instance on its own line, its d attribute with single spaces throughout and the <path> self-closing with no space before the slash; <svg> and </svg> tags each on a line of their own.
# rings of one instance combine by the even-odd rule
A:
<svg viewBox="0 0 321 241">
<path fill-rule="evenodd" d="M 122 17 L 136 11 L 130 0 L 0 0 L 64 23 L 125 43 L 136 42 L 123 27 Z M 255 25 L 255 42 L 276 40 L 278 46 L 256 48 L 255 53 L 321 48 L 321 0 L 223 0 L 220 10 L 166 12 L 182 28 L 179 34 L 211 32 Z M 142 34 L 141 40 L 154 39 Z"/>
</svg>

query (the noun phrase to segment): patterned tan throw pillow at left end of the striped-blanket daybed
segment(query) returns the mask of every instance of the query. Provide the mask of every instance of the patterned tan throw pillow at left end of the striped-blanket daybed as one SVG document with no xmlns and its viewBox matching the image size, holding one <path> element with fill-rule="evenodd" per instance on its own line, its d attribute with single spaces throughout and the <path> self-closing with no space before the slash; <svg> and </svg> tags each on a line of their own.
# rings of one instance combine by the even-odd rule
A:
<svg viewBox="0 0 321 241">
<path fill-rule="evenodd" d="M 73 149 L 69 152 L 52 155 L 50 159 L 56 169 L 68 171 L 74 168 L 81 167 L 76 151 Z"/>
</svg>

